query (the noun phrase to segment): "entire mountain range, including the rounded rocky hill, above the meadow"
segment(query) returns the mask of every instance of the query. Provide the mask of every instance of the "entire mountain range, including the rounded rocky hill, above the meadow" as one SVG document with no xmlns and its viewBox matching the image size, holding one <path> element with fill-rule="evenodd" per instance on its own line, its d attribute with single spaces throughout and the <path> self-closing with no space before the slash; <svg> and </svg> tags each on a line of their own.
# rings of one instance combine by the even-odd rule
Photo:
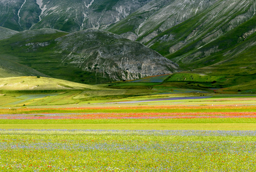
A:
<svg viewBox="0 0 256 172">
<path fill-rule="evenodd" d="M 253 0 L 2 0 L 0 26 L 25 30 L 5 29 L 0 54 L 61 79 L 102 83 L 185 71 L 221 76 L 221 88 L 255 80 Z"/>
</svg>

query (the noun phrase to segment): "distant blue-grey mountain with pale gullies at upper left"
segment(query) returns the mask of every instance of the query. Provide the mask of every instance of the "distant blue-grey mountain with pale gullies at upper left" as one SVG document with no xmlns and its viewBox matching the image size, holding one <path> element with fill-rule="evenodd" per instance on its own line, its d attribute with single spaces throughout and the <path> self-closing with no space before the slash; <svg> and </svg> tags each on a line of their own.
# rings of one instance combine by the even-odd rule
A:
<svg viewBox="0 0 256 172">
<path fill-rule="evenodd" d="M 106 28 L 150 0 L 2 0 L 0 26 L 21 31 L 52 28 L 76 32 Z"/>
</svg>

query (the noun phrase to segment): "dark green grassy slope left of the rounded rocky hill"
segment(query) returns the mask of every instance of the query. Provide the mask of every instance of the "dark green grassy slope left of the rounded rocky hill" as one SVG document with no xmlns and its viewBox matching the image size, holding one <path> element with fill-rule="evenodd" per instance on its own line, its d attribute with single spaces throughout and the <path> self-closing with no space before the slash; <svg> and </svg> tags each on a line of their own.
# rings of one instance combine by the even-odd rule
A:
<svg viewBox="0 0 256 172">
<path fill-rule="evenodd" d="M 95 73 L 82 71 L 75 67 L 74 64 L 62 64 L 63 54 L 55 51 L 54 46 L 56 42 L 54 40 L 67 34 L 66 32 L 52 29 L 20 32 L 7 40 L 0 40 L 0 56 L 5 60 L 13 61 L 14 65 L 14 62 L 18 62 L 19 64 L 36 69 L 44 73 L 44 76 L 72 80 L 78 83 L 95 83 Z M 49 45 L 26 46 L 26 44 L 34 42 L 47 42 Z M 65 54 L 65 52 L 63 53 Z M 17 69 L 19 68 L 17 67 Z M 22 71 L 20 72 L 22 73 Z M 104 80 L 101 77 L 98 78 Z"/>
</svg>

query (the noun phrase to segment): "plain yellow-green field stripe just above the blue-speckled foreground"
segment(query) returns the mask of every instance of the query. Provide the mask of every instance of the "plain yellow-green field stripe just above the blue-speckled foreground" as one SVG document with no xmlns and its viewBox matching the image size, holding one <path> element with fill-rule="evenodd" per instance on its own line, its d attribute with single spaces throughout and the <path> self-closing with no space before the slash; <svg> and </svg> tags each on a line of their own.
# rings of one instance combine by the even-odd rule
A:
<svg viewBox="0 0 256 172">
<path fill-rule="evenodd" d="M 255 123 L 219 124 L 0 124 L 1 129 L 91 129 L 91 130 L 256 130 Z"/>
</svg>

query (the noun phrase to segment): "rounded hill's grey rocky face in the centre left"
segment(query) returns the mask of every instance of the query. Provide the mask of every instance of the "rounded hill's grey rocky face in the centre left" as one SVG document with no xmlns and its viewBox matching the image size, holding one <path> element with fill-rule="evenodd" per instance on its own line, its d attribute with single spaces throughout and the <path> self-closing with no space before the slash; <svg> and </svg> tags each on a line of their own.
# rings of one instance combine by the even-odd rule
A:
<svg viewBox="0 0 256 172">
<path fill-rule="evenodd" d="M 56 40 L 56 49 L 66 52 L 63 63 L 76 64 L 83 71 L 100 73 L 112 80 L 132 80 L 179 71 L 178 65 L 147 48 L 96 29 L 68 34 Z"/>
</svg>

